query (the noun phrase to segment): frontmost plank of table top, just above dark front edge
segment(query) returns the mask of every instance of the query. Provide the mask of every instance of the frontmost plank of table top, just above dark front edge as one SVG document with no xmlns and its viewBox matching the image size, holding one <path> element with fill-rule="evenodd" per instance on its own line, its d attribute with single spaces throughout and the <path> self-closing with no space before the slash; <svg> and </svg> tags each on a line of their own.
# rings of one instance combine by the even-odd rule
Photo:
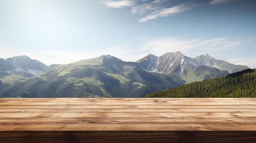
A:
<svg viewBox="0 0 256 143">
<path fill-rule="evenodd" d="M 255 131 L 250 123 L 0 123 L 1 131 Z"/>
</svg>

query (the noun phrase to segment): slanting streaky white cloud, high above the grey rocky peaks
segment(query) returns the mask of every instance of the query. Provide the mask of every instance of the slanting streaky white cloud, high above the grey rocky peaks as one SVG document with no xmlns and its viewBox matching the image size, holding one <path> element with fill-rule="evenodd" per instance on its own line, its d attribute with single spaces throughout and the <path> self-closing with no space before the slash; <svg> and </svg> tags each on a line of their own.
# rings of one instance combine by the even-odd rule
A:
<svg viewBox="0 0 256 143">
<path fill-rule="evenodd" d="M 177 13 L 182 13 L 183 11 L 188 11 L 190 9 L 192 9 L 192 7 L 187 7 L 185 6 L 185 4 L 181 4 L 175 7 L 155 10 L 149 15 L 147 15 L 146 17 L 139 19 L 139 22 L 146 22 L 148 20 L 152 20 L 160 17 L 172 16 Z"/>
</svg>

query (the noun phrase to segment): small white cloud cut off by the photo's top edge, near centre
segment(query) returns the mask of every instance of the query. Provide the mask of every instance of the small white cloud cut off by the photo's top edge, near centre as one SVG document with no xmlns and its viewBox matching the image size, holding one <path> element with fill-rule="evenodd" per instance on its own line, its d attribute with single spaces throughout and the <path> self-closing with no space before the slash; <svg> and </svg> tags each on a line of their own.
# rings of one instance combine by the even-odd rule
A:
<svg viewBox="0 0 256 143">
<path fill-rule="evenodd" d="M 118 0 L 118 1 L 113 1 L 113 0 L 104 0 L 102 1 L 104 5 L 107 7 L 114 7 L 114 8 L 123 8 L 123 7 L 130 7 L 134 4 L 134 1 L 132 0 Z"/>
</svg>

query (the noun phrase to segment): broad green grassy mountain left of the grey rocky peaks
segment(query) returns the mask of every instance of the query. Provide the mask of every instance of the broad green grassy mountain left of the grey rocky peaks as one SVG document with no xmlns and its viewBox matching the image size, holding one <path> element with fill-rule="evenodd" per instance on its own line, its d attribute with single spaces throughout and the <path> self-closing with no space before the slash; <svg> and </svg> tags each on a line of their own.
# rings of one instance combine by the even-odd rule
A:
<svg viewBox="0 0 256 143">
<path fill-rule="evenodd" d="M 143 97 L 182 84 L 164 74 L 148 73 L 134 62 L 103 55 L 52 65 L 34 77 L 4 88 L 0 97 Z"/>
</svg>

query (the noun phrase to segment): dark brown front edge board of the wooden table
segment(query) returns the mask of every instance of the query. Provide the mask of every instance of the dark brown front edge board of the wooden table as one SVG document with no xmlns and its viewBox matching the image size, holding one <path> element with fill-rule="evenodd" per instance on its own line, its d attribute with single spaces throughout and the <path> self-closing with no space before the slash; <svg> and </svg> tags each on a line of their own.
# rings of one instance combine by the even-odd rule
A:
<svg viewBox="0 0 256 143">
<path fill-rule="evenodd" d="M 256 132 L 0 132 L 0 143 L 255 143 Z"/>
</svg>

